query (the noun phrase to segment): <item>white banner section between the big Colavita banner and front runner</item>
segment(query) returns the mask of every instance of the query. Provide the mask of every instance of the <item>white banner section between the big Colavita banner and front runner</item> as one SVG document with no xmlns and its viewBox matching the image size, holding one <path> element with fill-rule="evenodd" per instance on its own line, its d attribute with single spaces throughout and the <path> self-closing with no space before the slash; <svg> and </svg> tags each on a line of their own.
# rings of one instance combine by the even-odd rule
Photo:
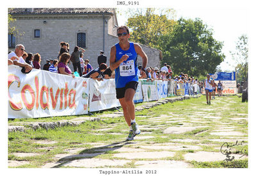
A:
<svg viewBox="0 0 256 176">
<path fill-rule="evenodd" d="M 89 104 L 90 112 L 121 106 L 116 99 L 115 79 L 104 79 L 104 81 L 90 79 Z"/>
</svg>

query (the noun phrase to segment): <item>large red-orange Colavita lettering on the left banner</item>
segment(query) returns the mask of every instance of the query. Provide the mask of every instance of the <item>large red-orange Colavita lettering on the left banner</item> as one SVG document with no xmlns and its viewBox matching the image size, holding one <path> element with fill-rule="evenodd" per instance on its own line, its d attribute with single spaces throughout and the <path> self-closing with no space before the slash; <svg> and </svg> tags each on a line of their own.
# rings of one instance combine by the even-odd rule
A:
<svg viewBox="0 0 256 176">
<path fill-rule="evenodd" d="M 8 88 L 10 88 L 14 82 L 18 83 L 17 87 L 19 88 L 20 78 L 14 74 L 10 74 L 8 76 Z M 22 102 L 28 110 L 31 110 L 34 107 L 38 109 L 39 105 L 42 109 L 49 109 L 50 105 L 52 106 L 52 109 L 55 109 L 57 102 L 60 102 L 60 109 L 66 109 L 67 107 L 70 109 L 76 108 L 76 90 L 68 90 L 68 83 L 65 83 L 65 88 L 58 88 L 54 96 L 52 88 L 47 86 L 42 86 L 39 88 L 39 80 L 37 76 L 35 77 L 35 88 L 33 88 L 33 86 L 30 84 L 26 84 L 20 89 L 20 97 L 22 102 L 21 100 L 17 99 L 17 96 L 15 99 L 13 99 L 10 92 L 8 92 L 8 95 L 10 107 L 15 111 L 20 111 L 23 108 Z M 27 99 L 27 96 L 29 95 L 31 96 L 30 102 Z"/>
</svg>

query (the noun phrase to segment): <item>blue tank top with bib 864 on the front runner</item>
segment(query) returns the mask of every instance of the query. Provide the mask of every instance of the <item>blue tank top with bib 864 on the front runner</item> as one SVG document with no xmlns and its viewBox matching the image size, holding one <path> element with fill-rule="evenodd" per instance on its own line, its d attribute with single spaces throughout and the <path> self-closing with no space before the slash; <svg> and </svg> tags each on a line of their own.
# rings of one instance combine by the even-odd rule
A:
<svg viewBox="0 0 256 176">
<path fill-rule="evenodd" d="M 120 60 L 124 54 L 127 54 L 129 58 L 123 61 L 119 67 L 115 69 L 115 84 L 116 88 L 124 88 L 125 84 L 131 81 L 139 81 L 138 77 L 138 65 L 137 65 L 137 53 L 134 49 L 134 44 L 130 43 L 130 47 L 127 51 L 121 49 L 117 43 L 116 46 L 116 61 Z"/>
</svg>

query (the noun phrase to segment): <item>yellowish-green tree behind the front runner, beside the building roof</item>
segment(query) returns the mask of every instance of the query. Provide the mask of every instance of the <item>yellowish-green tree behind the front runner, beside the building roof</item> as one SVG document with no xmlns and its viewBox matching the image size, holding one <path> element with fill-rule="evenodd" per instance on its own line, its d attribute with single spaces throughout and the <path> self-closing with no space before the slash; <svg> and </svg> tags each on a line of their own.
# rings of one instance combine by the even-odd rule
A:
<svg viewBox="0 0 256 176">
<path fill-rule="evenodd" d="M 140 44 L 156 47 L 159 36 L 172 31 L 175 23 L 172 9 L 144 8 L 129 10 L 131 17 L 127 20 L 127 27 L 131 29 L 131 40 Z M 155 14 L 157 13 L 157 14 Z"/>
</svg>

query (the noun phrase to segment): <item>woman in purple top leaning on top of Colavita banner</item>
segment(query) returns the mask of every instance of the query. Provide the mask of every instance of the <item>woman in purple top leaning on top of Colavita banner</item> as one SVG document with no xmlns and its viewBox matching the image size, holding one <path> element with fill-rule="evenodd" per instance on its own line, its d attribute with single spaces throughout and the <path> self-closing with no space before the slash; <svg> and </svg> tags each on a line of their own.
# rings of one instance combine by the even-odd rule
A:
<svg viewBox="0 0 256 176">
<path fill-rule="evenodd" d="M 67 65 L 69 59 L 70 59 L 70 55 L 67 52 L 63 52 L 61 54 L 60 60 L 58 61 L 58 73 L 75 77 L 74 74 L 71 74 L 72 72 Z"/>
</svg>

